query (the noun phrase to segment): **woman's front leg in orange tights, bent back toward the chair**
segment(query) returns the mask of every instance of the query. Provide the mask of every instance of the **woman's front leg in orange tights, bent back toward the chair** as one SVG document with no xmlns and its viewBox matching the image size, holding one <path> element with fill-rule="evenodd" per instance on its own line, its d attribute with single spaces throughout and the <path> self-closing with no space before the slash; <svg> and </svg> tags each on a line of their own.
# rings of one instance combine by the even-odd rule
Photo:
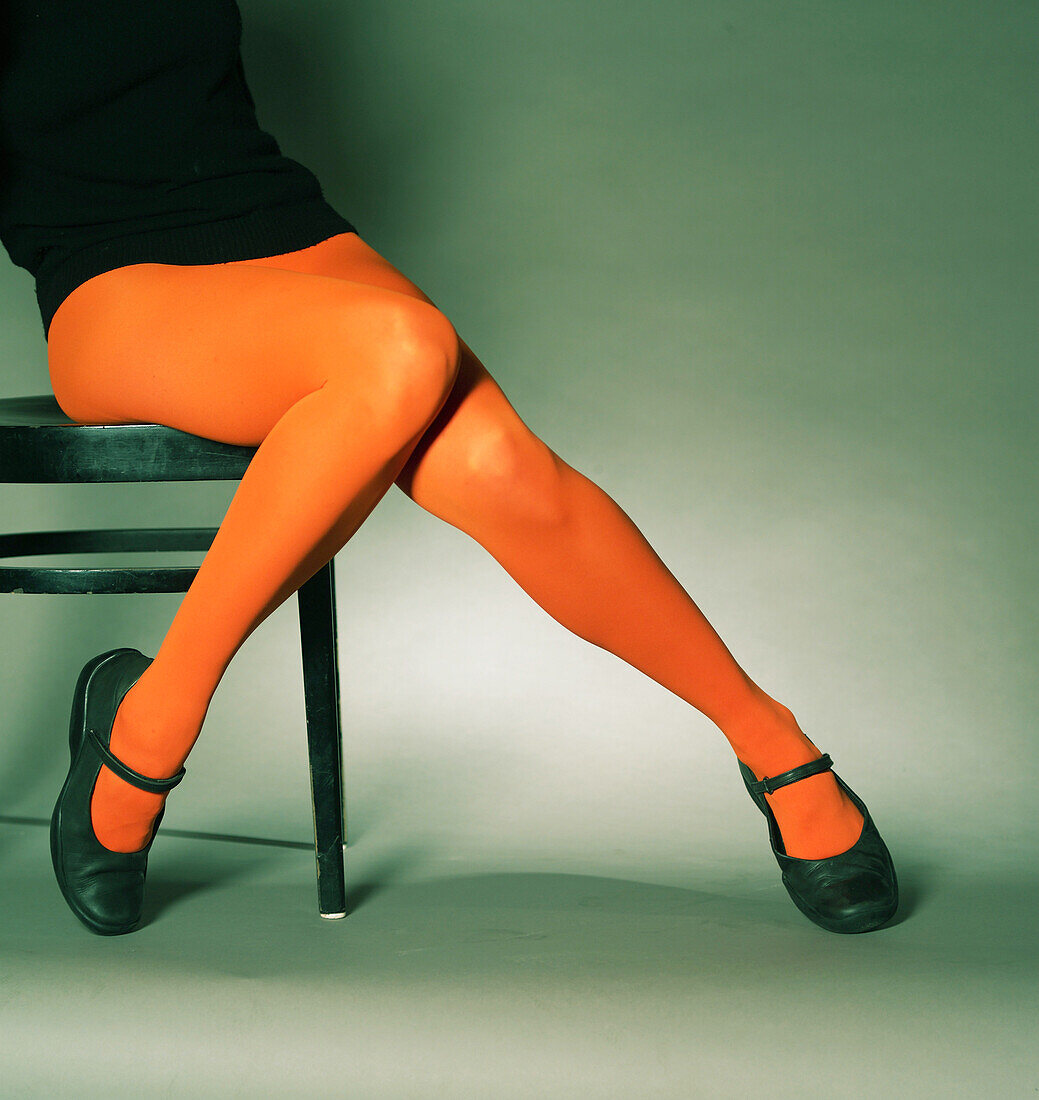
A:
<svg viewBox="0 0 1039 1100">
<path fill-rule="evenodd" d="M 166 424 L 258 447 L 113 726 L 117 757 L 170 776 L 245 638 L 399 474 L 454 382 L 457 337 L 413 296 L 343 278 L 245 263 L 139 264 L 66 299 L 48 359 L 73 419 Z M 164 798 L 102 768 L 91 801 L 98 839 L 139 850 Z"/>
</svg>

